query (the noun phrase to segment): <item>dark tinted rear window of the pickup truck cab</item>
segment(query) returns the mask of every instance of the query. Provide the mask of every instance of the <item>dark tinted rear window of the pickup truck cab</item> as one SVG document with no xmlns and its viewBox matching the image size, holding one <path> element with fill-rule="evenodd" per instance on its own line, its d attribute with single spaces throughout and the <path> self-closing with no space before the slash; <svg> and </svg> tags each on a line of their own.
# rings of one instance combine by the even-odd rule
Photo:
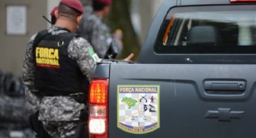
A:
<svg viewBox="0 0 256 138">
<path fill-rule="evenodd" d="M 176 7 L 167 13 L 157 53 L 256 53 L 255 5 Z"/>
</svg>

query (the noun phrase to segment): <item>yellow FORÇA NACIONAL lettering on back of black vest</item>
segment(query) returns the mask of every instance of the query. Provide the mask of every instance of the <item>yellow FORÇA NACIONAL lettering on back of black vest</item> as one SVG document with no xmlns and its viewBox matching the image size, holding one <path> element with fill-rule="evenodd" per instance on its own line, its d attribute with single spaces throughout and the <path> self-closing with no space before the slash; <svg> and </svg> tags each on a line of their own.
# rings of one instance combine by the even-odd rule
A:
<svg viewBox="0 0 256 138">
<path fill-rule="evenodd" d="M 58 49 L 45 47 L 36 47 L 36 63 L 37 65 L 52 65 L 59 67 Z"/>
</svg>

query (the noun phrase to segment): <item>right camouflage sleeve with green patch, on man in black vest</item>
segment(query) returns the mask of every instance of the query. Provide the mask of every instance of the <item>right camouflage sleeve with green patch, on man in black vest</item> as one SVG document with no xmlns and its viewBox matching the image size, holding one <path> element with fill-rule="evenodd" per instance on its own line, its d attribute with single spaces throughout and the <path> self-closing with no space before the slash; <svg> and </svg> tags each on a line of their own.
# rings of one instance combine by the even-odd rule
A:
<svg viewBox="0 0 256 138">
<path fill-rule="evenodd" d="M 90 43 L 84 38 L 78 37 L 70 41 L 67 48 L 69 58 L 74 59 L 81 72 L 87 77 L 87 80 L 92 79 L 93 71 L 96 62 L 100 62 L 98 55 L 94 52 Z"/>
</svg>

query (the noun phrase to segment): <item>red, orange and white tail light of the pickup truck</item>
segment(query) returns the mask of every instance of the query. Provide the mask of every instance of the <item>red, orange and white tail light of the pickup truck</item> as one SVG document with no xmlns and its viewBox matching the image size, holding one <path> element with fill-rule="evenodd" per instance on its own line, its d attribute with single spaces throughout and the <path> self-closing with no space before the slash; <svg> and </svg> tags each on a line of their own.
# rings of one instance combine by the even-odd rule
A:
<svg viewBox="0 0 256 138">
<path fill-rule="evenodd" d="M 108 79 L 95 79 L 89 90 L 89 137 L 108 137 Z"/>
</svg>

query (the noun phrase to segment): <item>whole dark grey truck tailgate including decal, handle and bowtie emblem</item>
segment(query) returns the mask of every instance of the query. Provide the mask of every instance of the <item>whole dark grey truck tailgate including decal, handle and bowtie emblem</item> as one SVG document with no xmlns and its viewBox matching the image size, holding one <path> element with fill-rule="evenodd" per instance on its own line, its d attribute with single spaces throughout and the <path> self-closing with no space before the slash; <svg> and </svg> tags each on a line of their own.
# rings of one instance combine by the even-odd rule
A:
<svg viewBox="0 0 256 138">
<path fill-rule="evenodd" d="M 112 64 L 109 137 L 255 137 L 255 70 L 256 65 Z"/>
</svg>

